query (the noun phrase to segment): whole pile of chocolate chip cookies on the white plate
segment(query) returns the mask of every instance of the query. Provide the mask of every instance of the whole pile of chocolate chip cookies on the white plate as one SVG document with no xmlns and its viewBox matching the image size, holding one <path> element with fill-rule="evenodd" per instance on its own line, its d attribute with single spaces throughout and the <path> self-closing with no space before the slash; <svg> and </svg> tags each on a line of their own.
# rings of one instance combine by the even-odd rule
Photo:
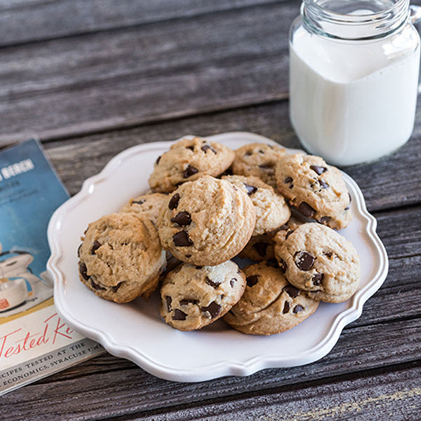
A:
<svg viewBox="0 0 421 421">
<path fill-rule="evenodd" d="M 356 291 L 359 256 L 335 231 L 352 218 L 351 198 L 318 156 L 185 138 L 156 159 L 149 185 L 82 238 L 79 278 L 100 297 L 129 302 L 159 289 L 173 328 L 223 318 L 272 335 Z M 240 269 L 236 257 L 253 262 Z"/>
</svg>

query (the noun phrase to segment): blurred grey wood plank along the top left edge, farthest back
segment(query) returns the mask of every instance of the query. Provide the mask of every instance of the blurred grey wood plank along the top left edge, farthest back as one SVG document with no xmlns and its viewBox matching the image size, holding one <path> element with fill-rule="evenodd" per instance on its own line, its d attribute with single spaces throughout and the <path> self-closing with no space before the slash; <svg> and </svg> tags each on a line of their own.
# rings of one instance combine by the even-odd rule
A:
<svg viewBox="0 0 421 421">
<path fill-rule="evenodd" d="M 0 47 L 273 2 L 178 0 L 175 4 L 170 0 L 4 0 L 0 3 Z"/>
</svg>

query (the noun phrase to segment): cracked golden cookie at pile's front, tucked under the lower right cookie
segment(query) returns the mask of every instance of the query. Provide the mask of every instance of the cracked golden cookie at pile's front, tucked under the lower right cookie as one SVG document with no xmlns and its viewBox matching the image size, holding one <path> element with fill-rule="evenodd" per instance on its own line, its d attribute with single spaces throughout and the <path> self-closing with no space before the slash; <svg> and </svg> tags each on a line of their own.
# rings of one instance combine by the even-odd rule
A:
<svg viewBox="0 0 421 421">
<path fill-rule="evenodd" d="M 319 302 L 292 286 L 278 267 L 260 262 L 245 267 L 246 291 L 225 315 L 234 329 L 250 335 L 274 335 L 297 326 Z"/>
</svg>

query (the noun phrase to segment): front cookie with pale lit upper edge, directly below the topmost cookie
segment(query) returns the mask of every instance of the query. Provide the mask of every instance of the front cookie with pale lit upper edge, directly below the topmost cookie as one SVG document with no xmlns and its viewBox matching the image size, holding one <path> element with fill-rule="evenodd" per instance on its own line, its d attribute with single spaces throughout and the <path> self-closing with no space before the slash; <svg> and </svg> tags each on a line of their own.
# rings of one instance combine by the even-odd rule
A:
<svg viewBox="0 0 421 421">
<path fill-rule="evenodd" d="M 163 280 L 159 312 L 173 328 L 201 329 L 226 314 L 245 288 L 246 276 L 230 260 L 218 266 L 183 263 Z"/>
</svg>

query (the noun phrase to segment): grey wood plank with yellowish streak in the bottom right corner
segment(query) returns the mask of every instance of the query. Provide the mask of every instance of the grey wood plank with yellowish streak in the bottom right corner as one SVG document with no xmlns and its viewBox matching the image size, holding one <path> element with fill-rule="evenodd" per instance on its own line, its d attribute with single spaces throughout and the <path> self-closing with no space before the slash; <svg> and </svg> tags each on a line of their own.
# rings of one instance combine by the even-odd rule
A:
<svg viewBox="0 0 421 421">
<path fill-rule="evenodd" d="M 140 412 L 119 420 L 419 420 L 421 368 L 407 368 L 387 375 L 348 377 L 345 380 L 295 389 L 283 387 L 272 394 L 229 402 L 206 402 L 163 413 Z"/>
</svg>

